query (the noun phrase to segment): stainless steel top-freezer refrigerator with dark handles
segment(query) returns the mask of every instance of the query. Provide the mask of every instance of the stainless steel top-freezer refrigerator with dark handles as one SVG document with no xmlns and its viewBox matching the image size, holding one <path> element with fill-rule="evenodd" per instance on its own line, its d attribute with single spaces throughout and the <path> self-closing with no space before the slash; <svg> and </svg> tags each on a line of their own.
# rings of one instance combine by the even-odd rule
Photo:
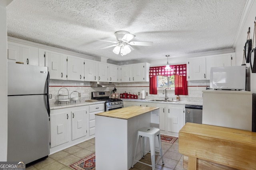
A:
<svg viewBox="0 0 256 170">
<path fill-rule="evenodd" d="M 7 161 L 48 157 L 49 78 L 47 67 L 8 63 Z"/>
</svg>

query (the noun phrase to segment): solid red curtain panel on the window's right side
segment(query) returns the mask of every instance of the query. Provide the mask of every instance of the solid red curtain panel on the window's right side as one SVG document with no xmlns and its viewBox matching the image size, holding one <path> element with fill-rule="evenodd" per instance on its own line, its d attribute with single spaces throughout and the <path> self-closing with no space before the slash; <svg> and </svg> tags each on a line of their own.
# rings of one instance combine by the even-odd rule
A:
<svg viewBox="0 0 256 170">
<path fill-rule="evenodd" d="M 188 84 L 186 76 L 174 75 L 175 95 L 188 95 Z"/>
</svg>

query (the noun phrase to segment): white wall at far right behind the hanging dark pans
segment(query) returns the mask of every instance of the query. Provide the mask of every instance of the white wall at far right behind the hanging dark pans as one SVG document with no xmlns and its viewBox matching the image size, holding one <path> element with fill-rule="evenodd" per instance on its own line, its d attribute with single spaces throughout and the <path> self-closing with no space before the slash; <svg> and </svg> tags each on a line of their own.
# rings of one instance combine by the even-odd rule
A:
<svg viewBox="0 0 256 170">
<path fill-rule="evenodd" d="M 253 30 L 254 30 L 254 21 L 256 17 L 256 1 L 248 0 L 247 7 L 250 8 L 250 11 L 244 20 L 244 25 L 242 26 L 242 33 L 238 38 L 235 44 L 235 52 L 236 52 L 236 65 L 242 64 L 243 59 L 243 49 L 247 38 L 247 31 L 250 27 L 250 38 L 253 37 Z M 255 44 L 255 42 L 254 42 Z M 255 45 L 254 45 L 255 47 Z M 246 63 L 246 66 L 250 67 L 250 63 Z M 256 92 L 256 73 L 251 73 L 251 91 L 253 93 Z"/>
</svg>

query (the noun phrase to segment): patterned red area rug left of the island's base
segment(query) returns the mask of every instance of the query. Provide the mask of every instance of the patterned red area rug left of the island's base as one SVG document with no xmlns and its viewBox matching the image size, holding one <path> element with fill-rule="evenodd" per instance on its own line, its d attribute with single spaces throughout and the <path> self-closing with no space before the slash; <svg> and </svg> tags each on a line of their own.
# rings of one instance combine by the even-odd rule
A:
<svg viewBox="0 0 256 170">
<path fill-rule="evenodd" d="M 74 170 L 96 170 L 95 169 L 95 152 L 86 156 L 85 158 L 78 160 L 74 164 L 70 165 L 70 168 Z"/>
</svg>

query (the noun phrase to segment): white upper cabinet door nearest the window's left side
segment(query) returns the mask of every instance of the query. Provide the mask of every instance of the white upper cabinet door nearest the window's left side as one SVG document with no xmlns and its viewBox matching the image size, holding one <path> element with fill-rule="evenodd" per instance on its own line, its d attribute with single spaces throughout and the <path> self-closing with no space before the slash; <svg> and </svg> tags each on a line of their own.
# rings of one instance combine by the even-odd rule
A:
<svg viewBox="0 0 256 170">
<path fill-rule="evenodd" d="M 149 82 L 149 63 L 132 64 L 132 81 Z"/>
</svg>

